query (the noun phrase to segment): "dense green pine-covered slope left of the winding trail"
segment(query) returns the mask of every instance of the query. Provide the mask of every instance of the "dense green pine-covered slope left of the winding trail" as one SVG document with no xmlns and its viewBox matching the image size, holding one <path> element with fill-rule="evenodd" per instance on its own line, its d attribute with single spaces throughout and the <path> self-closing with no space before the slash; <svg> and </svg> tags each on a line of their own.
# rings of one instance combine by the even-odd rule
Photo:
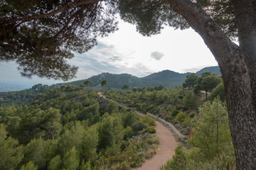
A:
<svg viewBox="0 0 256 170">
<path fill-rule="evenodd" d="M 0 108 L 0 169 L 130 169 L 152 157 L 154 120 L 82 87 Z"/>
</svg>

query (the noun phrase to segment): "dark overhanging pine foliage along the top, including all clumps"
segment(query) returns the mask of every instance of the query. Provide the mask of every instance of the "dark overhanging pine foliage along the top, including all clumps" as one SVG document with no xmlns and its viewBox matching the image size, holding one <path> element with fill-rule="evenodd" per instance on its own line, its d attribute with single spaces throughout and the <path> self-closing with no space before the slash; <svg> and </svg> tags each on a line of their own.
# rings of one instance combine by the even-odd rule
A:
<svg viewBox="0 0 256 170">
<path fill-rule="evenodd" d="M 230 1 L 198 0 L 229 35 L 236 34 Z M 68 80 L 78 67 L 67 63 L 73 52 L 86 52 L 98 35 L 117 30 L 115 14 L 137 25 L 142 35 L 164 26 L 188 28 L 185 19 L 165 1 L 3 0 L 0 4 L 0 61 L 15 61 L 23 77 Z M 231 23 L 231 24 L 230 24 Z"/>
</svg>

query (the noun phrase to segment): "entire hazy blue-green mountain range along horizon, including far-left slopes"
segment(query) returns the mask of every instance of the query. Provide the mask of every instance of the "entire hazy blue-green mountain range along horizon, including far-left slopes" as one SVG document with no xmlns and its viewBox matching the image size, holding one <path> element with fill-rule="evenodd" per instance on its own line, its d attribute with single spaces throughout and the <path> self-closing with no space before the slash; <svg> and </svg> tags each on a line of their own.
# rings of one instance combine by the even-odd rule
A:
<svg viewBox="0 0 256 170">
<path fill-rule="evenodd" d="M 203 72 L 211 72 L 220 75 L 219 67 L 206 67 L 196 72 L 196 75 L 200 76 Z M 172 88 L 175 86 L 181 86 L 188 74 L 191 73 L 181 74 L 170 70 L 164 70 L 162 72 L 150 74 L 147 77 L 139 78 L 132 76 L 131 74 L 102 73 L 97 76 L 90 77 L 89 80 L 93 83 L 93 85 L 90 87 L 98 88 L 101 87 L 100 82 L 103 79 L 107 79 L 108 84 L 106 88 L 109 90 L 120 90 L 122 89 L 122 86 L 124 86 L 124 84 L 128 84 L 130 89 L 134 87 L 148 87 L 160 85 L 165 86 L 166 88 Z M 18 91 L 18 88 L 20 88 L 20 86 L 15 86 L 14 89 L 11 89 L 11 86 L 8 86 L 6 84 L 3 84 L 3 86 L 1 86 L 0 84 L 0 89 L 1 87 L 3 87 L 3 89 L 1 89 L 2 91 L 10 90 L 10 92 L 0 92 L 0 106 L 10 106 L 10 104 L 14 106 L 23 106 L 24 104 L 33 101 L 33 98 L 36 95 L 48 91 L 49 89 L 69 84 L 73 86 L 79 86 L 80 84 L 83 84 L 83 82 L 85 82 L 85 79 L 79 81 L 71 81 L 63 84 L 53 84 L 51 86 L 36 84 L 31 89 L 26 89 L 23 91 Z M 25 89 L 25 87 L 23 88 Z"/>
</svg>

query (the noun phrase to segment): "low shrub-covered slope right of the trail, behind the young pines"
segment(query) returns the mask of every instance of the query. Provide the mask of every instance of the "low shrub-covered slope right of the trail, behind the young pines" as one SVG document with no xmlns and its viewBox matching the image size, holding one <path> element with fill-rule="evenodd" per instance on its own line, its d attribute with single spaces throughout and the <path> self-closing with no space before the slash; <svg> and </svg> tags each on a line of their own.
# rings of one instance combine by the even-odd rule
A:
<svg viewBox="0 0 256 170">
<path fill-rule="evenodd" d="M 188 135 L 190 121 L 198 112 L 198 101 L 193 91 L 183 87 L 166 89 L 164 86 L 134 88 L 132 91 L 105 91 L 105 96 L 124 103 L 142 113 L 152 113 L 173 123 Z"/>
</svg>

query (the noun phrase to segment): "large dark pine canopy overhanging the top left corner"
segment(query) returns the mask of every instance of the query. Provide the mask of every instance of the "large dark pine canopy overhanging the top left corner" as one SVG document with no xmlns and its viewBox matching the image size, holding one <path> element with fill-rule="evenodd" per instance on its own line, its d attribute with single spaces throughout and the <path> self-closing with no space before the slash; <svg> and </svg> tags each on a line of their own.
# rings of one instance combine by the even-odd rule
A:
<svg viewBox="0 0 256 170">
<path fill-rule="evenodd" d="M 104 5 L 106 4 L 106 5 Z M 1 1 L 0 61 L 15 61 L 24 77 L 68 80 L 66 60 L 86 52 L 98 35 L 117 29 L 111 1 Z"/>
</svg>

